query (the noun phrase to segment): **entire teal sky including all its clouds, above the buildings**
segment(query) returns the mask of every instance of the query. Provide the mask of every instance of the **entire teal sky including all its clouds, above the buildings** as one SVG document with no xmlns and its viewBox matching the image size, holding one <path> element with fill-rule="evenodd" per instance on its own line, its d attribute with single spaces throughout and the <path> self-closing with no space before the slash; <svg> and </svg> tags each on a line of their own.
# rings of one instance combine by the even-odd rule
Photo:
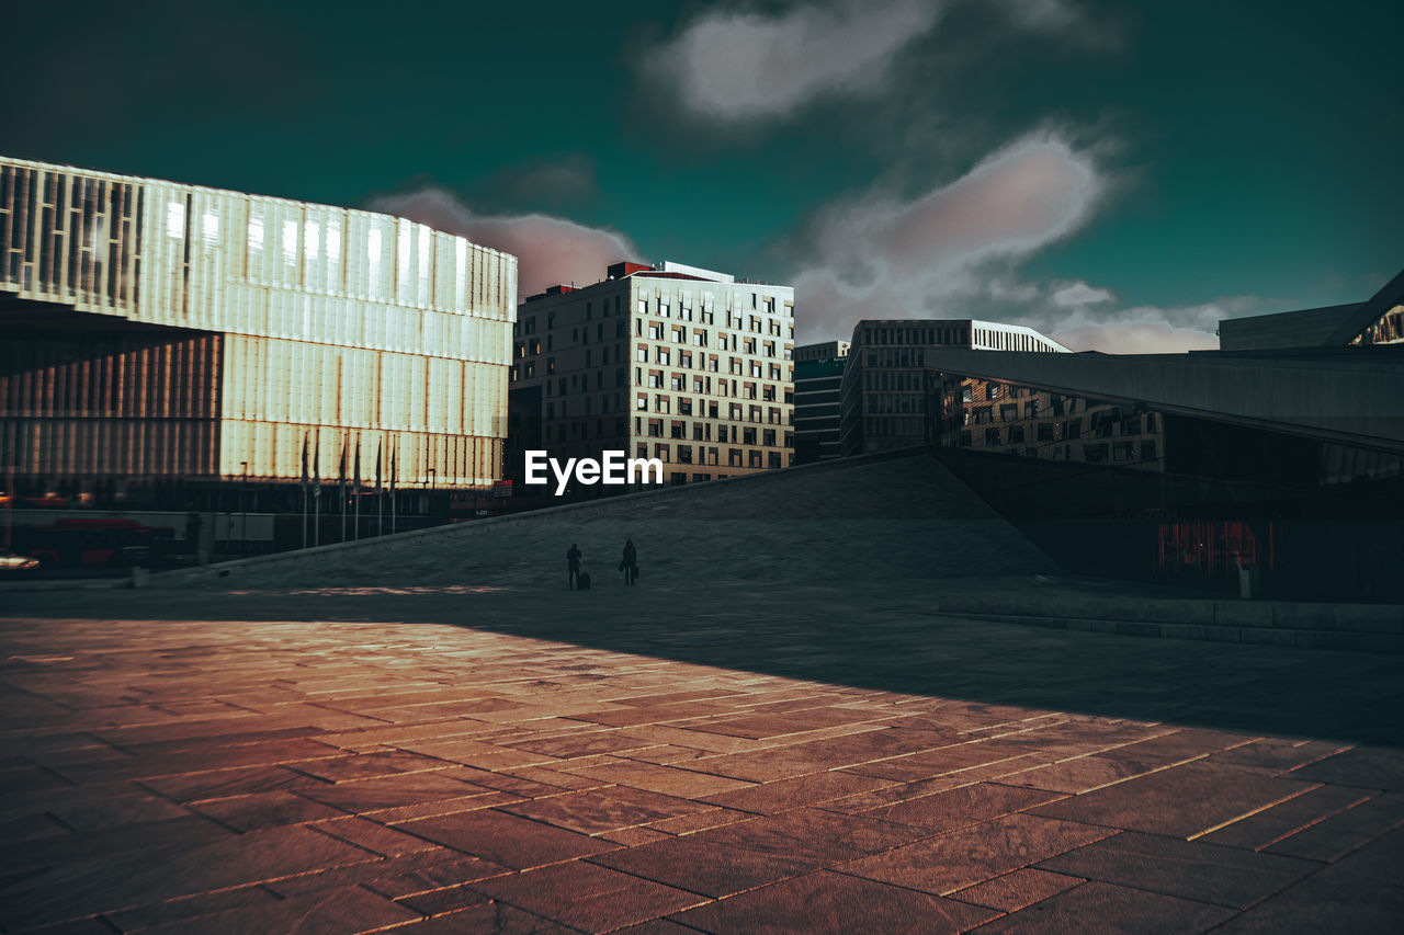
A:
<svg viewBox="0 0 1404 935">
<path fill-rule="evenodd" d="M 1404 4 L 21 4 L 0 153 L 369 208 L 519 295 L 675 260 L 802 343 L 984 317 L 1073 350 L 1404 267 Z"/>
</svg>

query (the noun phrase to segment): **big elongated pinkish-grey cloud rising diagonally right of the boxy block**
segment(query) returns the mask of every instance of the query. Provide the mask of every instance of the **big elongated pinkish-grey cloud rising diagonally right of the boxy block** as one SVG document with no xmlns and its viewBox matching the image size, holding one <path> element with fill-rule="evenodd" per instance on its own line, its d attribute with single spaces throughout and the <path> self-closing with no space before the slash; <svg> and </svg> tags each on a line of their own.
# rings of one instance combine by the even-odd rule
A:
<svg viewBox="0 0 1404 935">
<path fill-rule="evenodd" d="M 1045 133 L 914 199 L 831 206 L 812 222 L 795 277 L 802 340 L 847 338 L 865 317 L 970 317 L 976 302 L 1035 300 L 991 271 L 1081 227 L 1105 188 L 1088 153 Z"/>
</svg>

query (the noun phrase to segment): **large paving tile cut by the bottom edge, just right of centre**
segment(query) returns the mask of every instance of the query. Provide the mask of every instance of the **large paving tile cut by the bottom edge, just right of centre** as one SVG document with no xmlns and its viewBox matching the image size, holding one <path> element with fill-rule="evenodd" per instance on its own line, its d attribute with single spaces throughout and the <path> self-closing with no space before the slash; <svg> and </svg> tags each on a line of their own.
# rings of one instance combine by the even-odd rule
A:
<svg viewBox="0 0 1404 935">
<path fill-rule="evenodd" d="M 703 932 L 963 932 L 997 911 L 819 870 L 674 915 Z"/>
</svg>

